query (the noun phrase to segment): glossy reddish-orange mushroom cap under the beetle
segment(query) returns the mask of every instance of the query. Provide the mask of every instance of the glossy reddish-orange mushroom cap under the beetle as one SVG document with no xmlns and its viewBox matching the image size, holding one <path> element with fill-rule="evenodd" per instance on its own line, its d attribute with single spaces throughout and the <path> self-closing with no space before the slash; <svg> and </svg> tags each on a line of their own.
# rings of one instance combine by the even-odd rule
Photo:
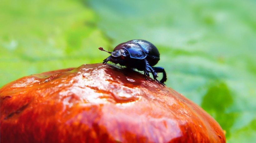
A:
<svg viewBox="0 0 256 143">
<path fill-rule="evenodd" d="M 202 108 L 112 65 L 34 74 L 0 89 L 1 143 L 225 142 Z"/>
</svg>

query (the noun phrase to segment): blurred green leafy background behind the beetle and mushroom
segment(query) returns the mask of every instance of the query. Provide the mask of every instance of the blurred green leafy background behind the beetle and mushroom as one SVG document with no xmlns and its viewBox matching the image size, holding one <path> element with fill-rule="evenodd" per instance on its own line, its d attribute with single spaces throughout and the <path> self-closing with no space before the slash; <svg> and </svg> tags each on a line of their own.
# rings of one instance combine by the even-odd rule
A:
<svg viewBox="0 0 256 143">
<path fill-rule="evenodd" d="M 2 0 L 0 87 L 100 63 L 121 42 L 160 51 L 166 86 L 211 114 L 227 142 L 256 141 L 256 1 Z"/>
</svg>

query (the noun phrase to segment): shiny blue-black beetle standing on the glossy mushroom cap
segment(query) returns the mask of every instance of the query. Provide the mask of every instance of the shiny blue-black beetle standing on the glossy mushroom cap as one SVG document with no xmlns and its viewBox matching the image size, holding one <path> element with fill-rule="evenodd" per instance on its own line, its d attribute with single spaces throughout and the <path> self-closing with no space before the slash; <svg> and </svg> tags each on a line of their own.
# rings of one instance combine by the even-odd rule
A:
<svg viewBox="0 0 256 143">
<path fill-rule="evenodd" d="M 99 49 L 105 51 L 102 47 Z M 130 40 L 117 45 L 112 52 L 106 52 L 110 53 L 111 56 L 103 60 L 103 64 L 111 61 L 121 66 L 135 68 L 144 71 L 145 78 L 149 76 L 149 72 L 151 72 L 153 78 L 162 85 L 164 85 L 164 82 L 167 80 L 164 68 L 152 67 L 160 60 L 160 54 L 157 48 L 148 41 Z M 163 78 L 160 82 L 156 79 L 158 77 L 157 73 L 163 73 Z"/>
</svg>

